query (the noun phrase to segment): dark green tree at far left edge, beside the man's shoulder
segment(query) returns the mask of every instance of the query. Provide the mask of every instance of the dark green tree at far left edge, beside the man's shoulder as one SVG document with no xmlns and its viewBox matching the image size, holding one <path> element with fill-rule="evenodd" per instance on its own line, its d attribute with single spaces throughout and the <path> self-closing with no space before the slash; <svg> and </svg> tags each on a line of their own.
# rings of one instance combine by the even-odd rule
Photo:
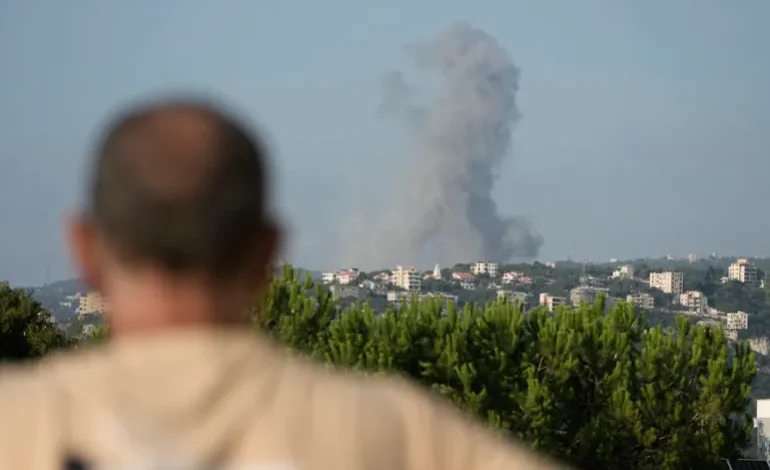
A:
<svg viewBox="0 0 770 470">
<path fill-rule="evenodd" d="M 0 282 L 0 361 L 38 358 L 72 344 L 30 292 Z"/>
</svg>

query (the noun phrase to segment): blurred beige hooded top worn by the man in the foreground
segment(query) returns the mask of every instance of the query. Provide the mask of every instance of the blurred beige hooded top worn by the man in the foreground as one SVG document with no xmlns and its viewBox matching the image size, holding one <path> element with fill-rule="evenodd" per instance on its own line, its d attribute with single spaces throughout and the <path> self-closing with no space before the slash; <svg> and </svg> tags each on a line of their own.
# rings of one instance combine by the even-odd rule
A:
<svg viewBox="0 0 770 470">
<path fill-rule="evenodd" d="M 0 469 L 565 468 L 401 381 L 332 374 L 250 331 L 123 339 L 0 369 Z"/>
</svg>

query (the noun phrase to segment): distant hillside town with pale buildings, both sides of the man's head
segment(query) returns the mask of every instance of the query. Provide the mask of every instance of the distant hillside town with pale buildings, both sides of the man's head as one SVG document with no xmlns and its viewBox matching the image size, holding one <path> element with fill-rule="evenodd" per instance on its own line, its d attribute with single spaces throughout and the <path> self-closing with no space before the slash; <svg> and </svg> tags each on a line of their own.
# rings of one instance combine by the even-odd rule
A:
<svg viewBox="0 0 770 470">
<path fill-rule="evenodd" d="M 697 323 L 721 325 L 728 338 L 748 338 L 752 348 L 766 354 L 770 304 L 764 271 L 757 263 L 770 268 L 765 258 L 689 255 L 608 263 L 483 260 L 448 268 L 435 265 L 432 270 L 398 265 L 369 272 L 346 268 L 311 274 L 341 307 L 366 302 L 375 312 L 398 308 L 412 297 L 440 297 L 460 307 L 505 298 L 523 310 L 543 307 L 553 312 L 562 305 L 593 303 L 602 294 L 607 308 L 619 300 L 630 302 L 654 323 L 671 325 L 677 315 L 687 315 Z M 65 282 L 69 291 L 54 284 L 38 289 L 36 297 L 57 321 L 77 319 L 87 330 L 99 324 L 109 308 L 107 300 L 81 289 L 79 283 Z"/>
</svg>

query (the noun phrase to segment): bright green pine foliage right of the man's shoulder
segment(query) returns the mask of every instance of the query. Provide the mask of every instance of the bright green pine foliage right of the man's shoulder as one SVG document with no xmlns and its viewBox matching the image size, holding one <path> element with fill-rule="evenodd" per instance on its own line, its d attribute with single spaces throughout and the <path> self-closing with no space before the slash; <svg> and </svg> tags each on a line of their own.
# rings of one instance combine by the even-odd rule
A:
<svg viewBox="0 0 770 470">
<path fill-rule="evenodd" d="M 419 381 L 501 433 L 581 468 L 718 468 L 751 435 L 748 345 L 679 318 L 649 327 L 604 300 L 522 312 L 502 300 L 457 309 L 412 298 L 375 315 L 322 286 L 276 279 L 255 325 L 298 352 Z"/>
</svg>

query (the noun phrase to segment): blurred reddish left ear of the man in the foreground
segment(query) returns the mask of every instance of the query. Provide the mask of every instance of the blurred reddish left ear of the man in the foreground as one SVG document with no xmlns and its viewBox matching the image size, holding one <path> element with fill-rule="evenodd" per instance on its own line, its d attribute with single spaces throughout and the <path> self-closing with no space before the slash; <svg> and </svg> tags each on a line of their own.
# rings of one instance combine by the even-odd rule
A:
<svg viewBox="0 0 770 470">
<path fill-rule="evenodd" d="M 80 278 L 96 291 L 102 290 L 102 259 L 93 223 L 82 215 L 72 215 L 65 224 L 67 248 Z"/>
</svg>

